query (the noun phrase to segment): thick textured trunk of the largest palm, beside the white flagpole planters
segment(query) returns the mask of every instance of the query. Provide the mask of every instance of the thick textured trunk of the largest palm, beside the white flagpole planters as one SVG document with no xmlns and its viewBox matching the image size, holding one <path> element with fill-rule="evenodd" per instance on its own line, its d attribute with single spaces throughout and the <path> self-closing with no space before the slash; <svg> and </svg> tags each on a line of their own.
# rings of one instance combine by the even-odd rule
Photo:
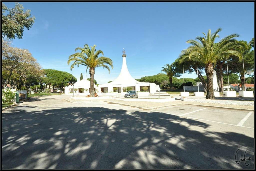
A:
<svg viewBox="0 0 256 171">
<path fill-rule="evenodd" d="M 207 76 L 207 94 L 206 99 L 215 99 L 213 93 L 213 83 L 212 83 L 212 75 L 213 75 L 213 66 L 212 63 L 208 63 L 205 65 L 205 73 Z"/>
</svg>

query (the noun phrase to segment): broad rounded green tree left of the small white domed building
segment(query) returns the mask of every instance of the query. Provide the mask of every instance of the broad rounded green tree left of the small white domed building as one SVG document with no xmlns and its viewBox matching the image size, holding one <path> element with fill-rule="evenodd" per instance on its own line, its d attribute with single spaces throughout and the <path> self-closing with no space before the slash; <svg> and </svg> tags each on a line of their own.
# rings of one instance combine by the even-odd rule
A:
<svg viewBox="0 0 256 171">
<path fill-rule="evenodd" d="M 60 90 L 62 91 L 62 87 L 67 86 L 68 84 L 72 84 L 73 76 L 70 73 L 52 69 L 46 69 L 44 71 L 47 77 L 46 81 L 48 84 L 51 84 L 53 88 L 55 86 L 59 86 Z M 74 77 L 74 83 L 75 82 L 77 82 L 76 77 Z"/>
</svg>

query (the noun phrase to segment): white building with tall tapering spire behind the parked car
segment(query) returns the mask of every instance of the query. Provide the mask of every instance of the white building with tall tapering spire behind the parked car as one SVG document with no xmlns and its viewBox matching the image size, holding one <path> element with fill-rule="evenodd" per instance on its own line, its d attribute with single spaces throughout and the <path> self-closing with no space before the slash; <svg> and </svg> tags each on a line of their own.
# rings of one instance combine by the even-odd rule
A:
<svg viewBox="0 0 256 171">
<path fill-rule="evenodd" d="M 124 52 L 124 51 L 123 51 Z M 124 87 L 131 87 L 132 90 L 136 90 L 137 92 L 142 91 L 142 87 L 148 87 L 149 93 L 156 93 L 157 90 L 160 90 L 160 87 L 155 83 L 144 83 L 135 80 L 128 71 L 126 65 L 126 54 L 122 55 L 123 57 L 123 64 L 122 69 L 119 76 L 110 83 L 105 83 L 99 85 L 101 93 L 107 92 L 114 92 L 114 88 L 116 89 L 115 92 L 123 93 Z"/>
</svg>

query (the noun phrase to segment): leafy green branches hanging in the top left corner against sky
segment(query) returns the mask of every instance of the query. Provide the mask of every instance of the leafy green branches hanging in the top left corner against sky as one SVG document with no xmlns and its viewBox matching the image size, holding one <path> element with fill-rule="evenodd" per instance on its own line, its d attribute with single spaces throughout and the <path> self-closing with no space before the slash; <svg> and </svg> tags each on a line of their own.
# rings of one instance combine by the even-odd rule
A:
<svg viewBox="0 0 256 171">
<path fill-rule="evenodd" d="M 7 8 L 2 3 L 2 36 L 9 39 L 19 38 L 22 39 L 24 27 L 28 30 L 34 24 L 36 19 L 34 16 L 30 17 L 30 11 L 23 11 L 24 7 L 22 4 L 15 3 L 14 8 Z M 4 15 L 5 12 L 8 14 Z"/>
</svg>

